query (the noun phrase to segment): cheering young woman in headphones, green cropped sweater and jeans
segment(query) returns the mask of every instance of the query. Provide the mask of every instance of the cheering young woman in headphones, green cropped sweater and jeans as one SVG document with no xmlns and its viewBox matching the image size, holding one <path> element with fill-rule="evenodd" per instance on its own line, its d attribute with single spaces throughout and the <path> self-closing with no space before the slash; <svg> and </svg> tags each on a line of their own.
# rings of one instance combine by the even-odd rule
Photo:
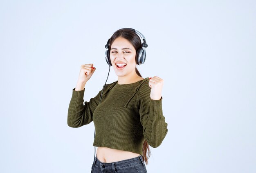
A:
<svg viewBox="0 0 256 173">
<path fill-rule="evenodd" d="M 67 124 L 81 127 L 93 121 L 95 126 L 93 146 L 98 148 L 92 173 L 146 173 L 144 162 L 148 164 L 149 145 L 158 147 L 168 131 L 162 113 L 163 79 L 144 79 L 136 68 L 145 60 L 140 59 L 143 57 L 139 51 L 146 40 L 142 38 L 141 44 L 142 34 L 138 33 L 122 28 L 110 37 L 106 60 L 118 81 L 104 85 L 103 94 L 101 90 L 83 104 L 85 84 L 96 70 L 93 64 L 81 66 L 76 88 L 72 90 Z"/>
</svg>

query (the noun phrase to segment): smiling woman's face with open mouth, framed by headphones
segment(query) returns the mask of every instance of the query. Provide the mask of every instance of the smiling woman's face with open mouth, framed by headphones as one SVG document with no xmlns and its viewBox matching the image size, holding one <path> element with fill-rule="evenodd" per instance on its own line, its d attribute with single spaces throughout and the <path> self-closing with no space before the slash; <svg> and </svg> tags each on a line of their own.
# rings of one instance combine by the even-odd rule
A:
<svg viewBox="0 0 256 173">
<path fill-rule="evenodd" d="M 119 77 L 136 74 L 136 50 L 132 44 L 123 37 L 117 37 L 110 48 L 110 60 Z"/>
</svg>

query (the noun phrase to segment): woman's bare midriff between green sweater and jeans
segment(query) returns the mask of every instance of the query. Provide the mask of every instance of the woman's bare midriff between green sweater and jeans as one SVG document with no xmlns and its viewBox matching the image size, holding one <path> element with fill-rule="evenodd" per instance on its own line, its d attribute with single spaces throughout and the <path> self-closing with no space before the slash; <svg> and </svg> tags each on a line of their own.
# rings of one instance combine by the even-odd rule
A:
<svg viewBox="0 0 256 173">
<path fill-rule="evenodd" d="M 121 160 L 136 158 L 140 154 L 132 153 L 130 151 L 122 151 L 118 149 L 110 149 L 107 147 L 97 148 L 97 158 L 104 163 L 118 162 Z"/>
</svg>

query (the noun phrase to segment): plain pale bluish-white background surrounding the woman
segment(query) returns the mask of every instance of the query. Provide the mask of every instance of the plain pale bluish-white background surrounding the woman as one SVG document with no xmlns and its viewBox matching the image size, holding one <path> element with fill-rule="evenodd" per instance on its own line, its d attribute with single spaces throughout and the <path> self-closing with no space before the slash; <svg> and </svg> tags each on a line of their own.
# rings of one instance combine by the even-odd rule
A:
<svg viewBox="0 0 256 173">
<path fill-rule="evenodd" d="M 97 68 L 84 100 L 102 89 L 125 27 L 146 37 L 142 77 L 164 79 L 168 134 L 148 173 L 255 173 L 253 0 L 1 0 L 0 172 L 90 172 L 94 125 L 68 127 L 67 109 L 82 64 Z"/>
</svg>

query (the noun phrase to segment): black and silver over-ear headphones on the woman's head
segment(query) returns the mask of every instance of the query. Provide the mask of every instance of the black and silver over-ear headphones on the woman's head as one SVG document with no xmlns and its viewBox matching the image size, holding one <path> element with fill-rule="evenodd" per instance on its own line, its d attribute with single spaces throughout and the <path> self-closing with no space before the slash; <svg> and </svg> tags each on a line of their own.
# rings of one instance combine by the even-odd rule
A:
<svg viewBox="0 0 256 173">
<path fill-rule="evenodd" d="M 132 31 L 134 31 L 137 35 L 139 35 L 139 37 L 143 40 L 143 43 L 141 44 L 142 48 L 139 48 L 137 51 L 136 51 L 136 64 L 138 65 L 141 65 L 141 64 L 144 64 L 145 60 L 146 60 L 146 50 L 145 48 L 148 47 L 148 44 L 146 43 L 146 39 L 144 37 L 144 35 L 142 35 L 139 31 L 135 30 L 135 29 L 132 29 L 132 28 L 123 28 L 123 29 L 130 29 Z M 111 64 L 111 60 L 110 60 L 110 47 L 109 47 L 109 44 L 110 44 L 110 38 L 112 37 L 114 33 L 112 33 L 108 39 L 108 42 L 107 44 L 105 45 L 105 48 L 108 49 L 106 50 L 105 52 L 105 59 L 108 63 L 108 65 L 112 66 Z"/>
</svg>

